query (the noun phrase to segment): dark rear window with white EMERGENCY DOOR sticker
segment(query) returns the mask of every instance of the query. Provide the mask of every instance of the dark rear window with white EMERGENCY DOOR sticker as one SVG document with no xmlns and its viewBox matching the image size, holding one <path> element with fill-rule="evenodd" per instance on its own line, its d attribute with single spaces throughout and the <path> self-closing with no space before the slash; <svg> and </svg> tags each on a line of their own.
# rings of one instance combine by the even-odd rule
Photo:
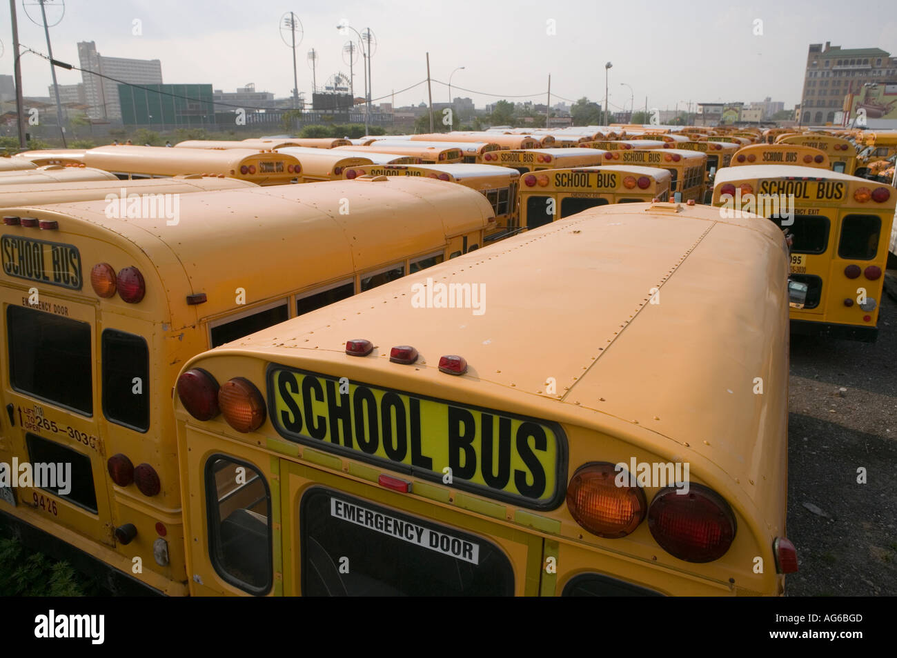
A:
<svg viewBox="0 0 897 658">
<path fill-rule="evenodd" d="M 312 489 L 300 527 L 303 596 L 514 593 L 510 562 L 489 541 L 366 500 Z"/>
</svg>

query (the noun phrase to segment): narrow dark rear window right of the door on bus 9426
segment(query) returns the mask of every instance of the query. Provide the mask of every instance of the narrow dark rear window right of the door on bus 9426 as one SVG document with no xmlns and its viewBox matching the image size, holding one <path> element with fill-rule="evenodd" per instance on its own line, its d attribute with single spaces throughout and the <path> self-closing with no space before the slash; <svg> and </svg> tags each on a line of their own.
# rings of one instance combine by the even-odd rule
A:
<svg viewBox="0 0 897 658">
<path fill-rule="evenodd" d="M 102 337 L 103 414 L 114 423 L 150 429 L 150 351 L 143 336 L 106 329 Z"/>
</svg>

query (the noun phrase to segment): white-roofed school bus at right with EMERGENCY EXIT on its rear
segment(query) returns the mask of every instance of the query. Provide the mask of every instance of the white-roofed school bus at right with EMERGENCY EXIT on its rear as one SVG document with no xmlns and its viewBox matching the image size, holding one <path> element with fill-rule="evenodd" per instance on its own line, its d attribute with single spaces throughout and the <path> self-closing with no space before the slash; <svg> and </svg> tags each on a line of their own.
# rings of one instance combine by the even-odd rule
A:
<svg viewBox="0 0 897 658">
<path fill-rule="evenodd" d="M 806 301 L 791 308 L 795 333 L 873 342 L 897 193 L 831 170 L 786 165 L 718 172 L 713 204 L 770 218 L 793 239 L 791 280 Z"/>
</svg>

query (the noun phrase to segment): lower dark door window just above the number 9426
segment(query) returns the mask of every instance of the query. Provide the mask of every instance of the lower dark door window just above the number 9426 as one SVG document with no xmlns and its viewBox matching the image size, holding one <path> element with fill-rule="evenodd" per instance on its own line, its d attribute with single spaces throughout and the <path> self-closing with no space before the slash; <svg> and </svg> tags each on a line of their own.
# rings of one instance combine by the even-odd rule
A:
<svg viewBox="0 0 897 658">
<path fill-rule="evenodd" d="M 28 447 L 28 458 L 32 467 L 40 470 L 45 476 L 52 473 L 49 479 L 44 476 L 39 483 L 36 482 L 40 489 L 81 506 L 93 514 L 97 513 L 97 493 L 93 489 L 90 457 L 34 434 L 25 435 L 25 445 Z M 57 464 L 61 464 L 65 469 L 62 473 L 58 471 Z M 71 472 L 68 472 L 69 464 L 72 465 Z"/>
</svg>

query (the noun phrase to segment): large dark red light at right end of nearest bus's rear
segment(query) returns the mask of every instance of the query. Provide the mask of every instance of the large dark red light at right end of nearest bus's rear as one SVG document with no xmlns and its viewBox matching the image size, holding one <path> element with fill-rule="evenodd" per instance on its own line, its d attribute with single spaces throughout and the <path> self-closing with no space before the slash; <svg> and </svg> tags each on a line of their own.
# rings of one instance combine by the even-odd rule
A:
<svg viewBox="0 0 897 658">
<path fill-rule="evenodd" d="M 648 527 L 663 550 L 686 562 L 721 558 L 735 540 L 732 508 L 716 491 L 690 483 L 687 494 L 675 487 L 658 492 L 648 509 Z"/>
</svg>

